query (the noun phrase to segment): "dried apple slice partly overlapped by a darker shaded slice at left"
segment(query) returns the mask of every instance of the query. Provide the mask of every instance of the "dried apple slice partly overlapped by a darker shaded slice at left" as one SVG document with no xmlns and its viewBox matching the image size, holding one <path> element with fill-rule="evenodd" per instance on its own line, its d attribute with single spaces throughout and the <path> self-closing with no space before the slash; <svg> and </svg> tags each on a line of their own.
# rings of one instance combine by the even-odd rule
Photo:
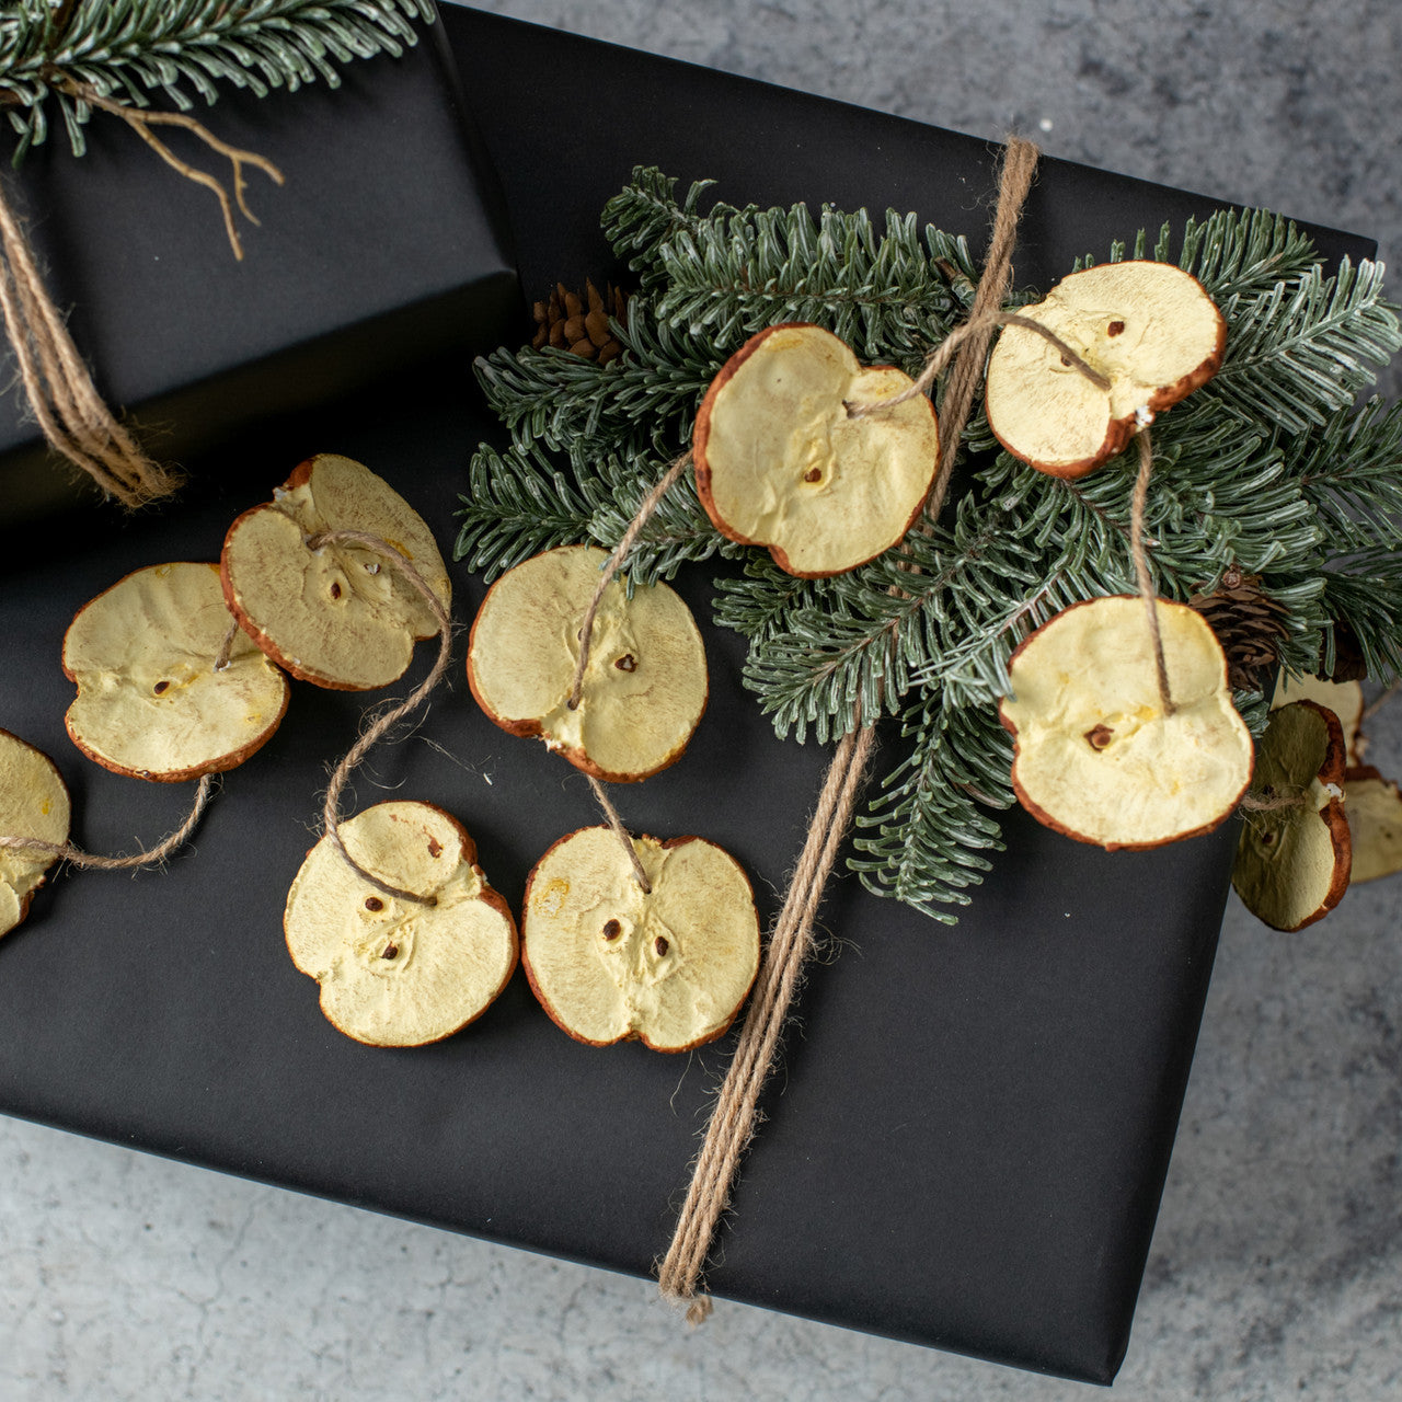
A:
<svg viewBox="0 0 1402 1402">
<path fill-rule="evenodd" d="M 243 764 L 282 722 L 287 679 L 241 632 L 216 672 L 231 624 L 207 564 L 137 569 L 84 604 L 63 638 L 73 743 L 160 784 Z"/>
</svg>

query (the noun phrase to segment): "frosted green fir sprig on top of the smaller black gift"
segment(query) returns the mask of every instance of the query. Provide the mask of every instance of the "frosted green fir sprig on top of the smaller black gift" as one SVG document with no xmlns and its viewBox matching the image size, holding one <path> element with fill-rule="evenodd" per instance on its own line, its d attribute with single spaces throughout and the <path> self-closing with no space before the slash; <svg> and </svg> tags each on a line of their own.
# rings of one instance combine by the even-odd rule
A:
<svg viewBox="0 0 1402 1402">
<path fill-rule="evenodd" d="M 262 97 L 416 42 L 430 0 L 18 0 L 0 20 L 0 101 L 20 133 L 15 160 L 45 140 L 55 107 L 76 156 L 91 108 L 74 88 L 133 107 L 189 111 L 219 84 Z"/>
</svg>

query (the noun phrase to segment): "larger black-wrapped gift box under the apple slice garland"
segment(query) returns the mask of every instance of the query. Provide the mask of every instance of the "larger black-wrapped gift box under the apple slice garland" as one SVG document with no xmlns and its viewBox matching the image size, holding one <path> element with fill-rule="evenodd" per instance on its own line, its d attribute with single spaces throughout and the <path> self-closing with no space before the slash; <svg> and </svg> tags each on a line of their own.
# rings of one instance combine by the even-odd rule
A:
<svg viewBox="0 0 1402 1402">
<path fill-rule="evenodd" d="M 634 163 L 715 177 L 737 203 L 914 207 L 976 245 L 986 237 L 995 153 L 983 142 L 471 11 L 447 10 L 443 24 L 505 189 L 529 297 L 611 271 L 597 212 Z M 593 76 L 587 123 L 569 84 L 522 77 L 541 72 Z M 324 119 L 335 119 L 334 104 Z M 147 182 L 156 203 L 161 178 Z M 1018 280 L 1044 286 L 1113 237 L 1211 209 L 1046 161 Z M 1328 257 L 1368 252 L 1361 240 L 1315 233 Z M 191 791 L 119 778 L 69 743 L 72 687 L 57 659 L 73 613 L 130 569 L 215 558 L 229 522 L 315 450 L 373 465 L 450 543 L 468 451 L 494 429 L 468 384 L 430 388 L 400 381 L 369 402 L 289 419 L 272 456 L 202 470 L 172 509 L 122 530 L 94 513 L 67 516 L 6 554 L 0 725 L 59 763 L 76 840 L 129 850 L 174 826 Z M 680 764 L 614 798 L 635 830 L 695 831 L 730 850 L 770 916 L 826 754 L 780 743 L 742 691 L 740 639 L 705 625 L 708 580 L 697 569 L 679 586 L 704 622 L 711 711 Z M 454 585 L 465 620 L 482 585 L 463 568 Z M 458 666 L 453 674 L 426 723 L 359 775 L 358 803 L 393 795 L 456 813 L 494 885 L 517 903 L 536 858 L 597 810 L 575 771 L 494 728 Z M 380 1052 L 339 1036 L 292 967 L 283 900 L 314 840 L 327 765 L 372 700 L 297 684 L 282 729 L 227 775 L 193 850 L 167 872 L 64 873 L 41 892 L 0 944 L 0 1108 L 646 1274 L 669 1241 L 707 1088 L 733 1035 L 691 1059 L 585 1047 L 517 976 L 463 1035 Z M 1014 812 L 1005 838 L 955 928 L 851 878 L 833 885 L 824 921 L 840 958 L 802 995 L 708 1279 L 723 1297 L 1109 1381 L 1168 1165 L 1234 833 L 1108 855 Z"/>
</svg>

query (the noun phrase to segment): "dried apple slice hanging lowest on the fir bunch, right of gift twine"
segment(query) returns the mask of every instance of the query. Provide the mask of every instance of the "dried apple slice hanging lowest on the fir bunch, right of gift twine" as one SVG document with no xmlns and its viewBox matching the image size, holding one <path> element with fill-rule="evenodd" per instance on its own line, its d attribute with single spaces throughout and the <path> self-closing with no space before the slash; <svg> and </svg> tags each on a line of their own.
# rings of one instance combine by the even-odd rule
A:
<svg viewBox="0 0 1402 1402">
<path fill-rule="evenodd" d="M 1001 707 L 1012 787 L 1047 827 L 1108 851 L 1211 831 L 1251 782 L 1251 732 L 1203 617 L 1158 600 L 1169 694 L 1158 693 L 1144 601 L 1073 604 L 1028 637 Z"/>
</svg>

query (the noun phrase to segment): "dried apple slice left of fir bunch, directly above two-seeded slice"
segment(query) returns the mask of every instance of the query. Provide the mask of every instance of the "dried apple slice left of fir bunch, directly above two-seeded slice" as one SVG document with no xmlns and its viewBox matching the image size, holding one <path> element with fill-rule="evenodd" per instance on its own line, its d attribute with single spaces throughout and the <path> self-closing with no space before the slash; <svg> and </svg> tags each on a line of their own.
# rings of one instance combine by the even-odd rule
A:
<svg viewBox="0 0 1402 1402">
<path fill-rule="evenodd" d="M 705 648 L 674 590 L 652 585 L 629 599 L 613 579 L 571 709 L 579 631 L 607 558 L 565 545 L 502 575 L 472 622 L 467 680 L 503 730 L 543 736 L 586 774 L 627 784 L 681 757 L 705 711 Z"/>
</svg>

